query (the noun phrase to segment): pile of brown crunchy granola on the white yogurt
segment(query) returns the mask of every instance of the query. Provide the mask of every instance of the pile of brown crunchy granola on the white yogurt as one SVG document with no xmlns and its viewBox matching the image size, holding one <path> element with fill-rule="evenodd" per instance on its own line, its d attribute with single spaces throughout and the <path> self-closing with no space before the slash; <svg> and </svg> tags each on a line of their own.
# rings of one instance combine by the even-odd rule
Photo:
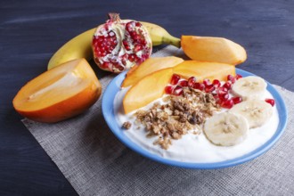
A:
<svg viewBox="0 0 294 196">
<path fill-rule="evenodd" d="M 165 150 L 172 140 L 188 132 L 200 134 L 205 119 L 220 110 L 213 94 L 188 86 L 184 87 L 184 94 L 167 95 L 163 102 L 153 103 L 149 110 L 137 110 L 134 115 L 135 125 L 143 125 L 148 137 L 157 136 L 153 144 Z"/>
</svg>

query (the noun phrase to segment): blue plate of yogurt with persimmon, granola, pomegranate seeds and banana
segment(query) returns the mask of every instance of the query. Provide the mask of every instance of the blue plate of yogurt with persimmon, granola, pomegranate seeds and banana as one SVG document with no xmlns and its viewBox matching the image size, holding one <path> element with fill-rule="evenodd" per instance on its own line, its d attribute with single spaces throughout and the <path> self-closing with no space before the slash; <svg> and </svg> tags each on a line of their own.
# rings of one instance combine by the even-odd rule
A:
<svg viewBox="0 0 294 196">
<path fill-rule="evenodd" d="M 102 112 L 127 147 L 176 167 L 231 167 L 282 135 L 286 107 L 263 78 L 225 63 L 176 60 L 151 73 L 131 69 L 107 87 Z"/>
</svg>

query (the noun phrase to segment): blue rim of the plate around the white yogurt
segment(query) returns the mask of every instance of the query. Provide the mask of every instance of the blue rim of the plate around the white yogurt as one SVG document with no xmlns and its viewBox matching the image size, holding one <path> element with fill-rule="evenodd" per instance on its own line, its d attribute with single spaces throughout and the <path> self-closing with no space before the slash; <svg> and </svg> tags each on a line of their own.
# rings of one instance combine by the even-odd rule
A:
<svg viewBox="0 0 294 196">
<path fill-rule="evenodd" d="M 249 73 L 248 71 L 244 71 L 241 69 L 236 69 L 238 74 L 241 74 L 243 77 L 247 76 L 254 76 L 253 74 Z M 279 125 L 278 128 L 273 135 L 273 137 L 268 140 L 265 144 L 257 148 L 255 151 L 251 151 L 248 154 L 245 154 L 239 158 L 236 159 L 229 159 L 221 162 L 214 162 L 214 163 L 191 163 L 191 162 L 181 162 L 171 159 L 165 159 L 160 157 L 159 155 L 153 154 L 150 151 L 147 151 L 143 149 L 142 147 L 138 146 L 137 144 L 133 143 L 127 135 L 124 134 L 124 131 L 121 129 L 121 125 L 118 125 L 117 120 L 115 118 L 114 110 L 113 110 L 113 101 L 115 98 L 115 95 L 118 93 L 120 85 L 123 81 L 123 79 L 126 76 L 126 72 L 123 72 L 119 74 L 116 78 L 114 78 L 110 85 L 107 86 L 103 97 L 102 97 L 102 113 L 103 116 L 110 127 L 111 131 L 114 135 L 118 137 L 118 139 L 127 145 L 128 148 L 132 149 L 133 151 L 136 151 L 140 154 L 142 154 L 144 157 L 147 157 L 149 159 L 153 159 L 155 161 L 158 161 L 160 163 L 164 163 L 171 166 L 176 167 L 185 167 L 185 168 L 198 168 L 198 169 L 211 169 L 211 168 L 221 168 L 221 167 L 232 167 L 244 162 L 247 162 L 251 159 L 255 159 L 261 154 L 265 153 L 265 151 L 268 151 L 274 143 L 277 142 L 277 140 L 282 135 L 286 124 L 287 124 L 287 109 L 285 106 L 285 103 L 282 100 L 281 95 L 274 89 L 274 86 L 267 83 L 267 90 L 273 94 L 275 104 L 277 107 L 277 110 L 279 112 Z"/>
</svg>

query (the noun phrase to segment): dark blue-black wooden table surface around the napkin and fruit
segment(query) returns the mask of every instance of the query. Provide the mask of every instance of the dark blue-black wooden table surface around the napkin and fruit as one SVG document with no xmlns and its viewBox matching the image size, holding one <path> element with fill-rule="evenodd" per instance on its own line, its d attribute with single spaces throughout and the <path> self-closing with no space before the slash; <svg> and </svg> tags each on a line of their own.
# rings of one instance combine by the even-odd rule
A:
<svg viewBox="0 0 294 196">
<path fill-rule="evenodd" d="M 248 52 L 239 68 L 294 91 L 293 11 L 287 0 L 0 1 L 0 195 L 77 194 L 20 122 L 12 98 L 62 44 L 107 12 L 157 23 L 176 37 L 230 38 Z M 107 74 L 92 65 L 99 78 Z"/>
</svg>

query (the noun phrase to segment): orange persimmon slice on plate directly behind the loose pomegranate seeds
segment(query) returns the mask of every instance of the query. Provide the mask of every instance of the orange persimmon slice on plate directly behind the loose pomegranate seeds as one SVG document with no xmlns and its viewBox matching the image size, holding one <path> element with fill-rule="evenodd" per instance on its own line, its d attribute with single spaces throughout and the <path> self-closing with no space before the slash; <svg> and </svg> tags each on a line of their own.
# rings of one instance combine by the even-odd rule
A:
<svg viewBox="0 0 294 196">
<path fill-rule="evenodd" d="M 200 82 L 206 78 L 226 81 L 228 75 L 236 75 L 233 65 L 205 61 L 184 61 L 174 68 L 174 72 L 186 79 L 196 77 Z"/>
</svg>

